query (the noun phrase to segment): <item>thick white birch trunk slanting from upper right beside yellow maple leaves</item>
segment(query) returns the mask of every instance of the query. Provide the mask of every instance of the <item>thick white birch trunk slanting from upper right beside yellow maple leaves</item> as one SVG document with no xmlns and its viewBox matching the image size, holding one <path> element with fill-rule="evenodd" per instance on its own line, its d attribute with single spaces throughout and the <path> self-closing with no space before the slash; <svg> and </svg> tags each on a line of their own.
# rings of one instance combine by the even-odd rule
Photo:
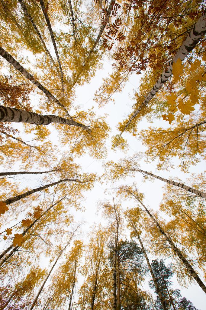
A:
<svg viewBox="0 0 206 310">
<path fill-rule="evenodd" d="M 140 104 L 137 110 L 129 118 L 120 136 L 125 131 L 125 129 L 127 129 L 129 124 L 132 122 L 133 118 L 137 116 L 137 114 L 142 110 L 142 108 L 144 108 L 148 104 L 148 102 L 158 92 L 158 90 L 162 87 L 162 85 L 170 78 L 170 76 L 172 75 L 173 63 L 176 62 L 178 59 L 180 60 L 185 59 L 185 57 L 189 54 L 190 51 L 192 51 L 192 49 L 197 45 L 197 43 L 201 40 L 201 38 L 204 36 L 205 33 L 206 33 L 206 10 L 204 10 L 203 15 L 196 22 L 195 26 L 193 27 L 191 32 L 188 34 L 186 40 L 182 43 L 177 53 L 174 55 L 174 57 L 170 61 L 169 66 L 163 71 L 162 75 L 160 76 L 158 81 L 155 83 L 151 91 L 147 94 L 144 101 Z"/>
</svg>

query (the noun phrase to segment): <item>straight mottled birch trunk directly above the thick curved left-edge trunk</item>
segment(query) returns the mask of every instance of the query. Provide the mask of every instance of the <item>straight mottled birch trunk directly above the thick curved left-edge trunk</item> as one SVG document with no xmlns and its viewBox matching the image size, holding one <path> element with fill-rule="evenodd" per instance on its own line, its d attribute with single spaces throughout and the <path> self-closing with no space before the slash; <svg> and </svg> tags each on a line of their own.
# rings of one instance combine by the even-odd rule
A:
<svg viewBox="0 0 206 310">
<path fill-rule="evenodd" d="M 21 72 L 29 81 L 31 81 L 36 87 L 38 87 L 41 91 L 44 92 L 49 98 L 51 98 L 54 102 L 56 102 L 61 108 L 64 109 L 66 115 L 72 120 L 72 117 L 69 115 L 65 106 L 46 89 L 43 85 L 41 85 L 17 60 L 15 60 L 8 52 L 6 52 L 2 47 L 0 47 L 0 55 L 6 59 L 10 64 L 14 66 L 16 70 Z"/>
</svg>

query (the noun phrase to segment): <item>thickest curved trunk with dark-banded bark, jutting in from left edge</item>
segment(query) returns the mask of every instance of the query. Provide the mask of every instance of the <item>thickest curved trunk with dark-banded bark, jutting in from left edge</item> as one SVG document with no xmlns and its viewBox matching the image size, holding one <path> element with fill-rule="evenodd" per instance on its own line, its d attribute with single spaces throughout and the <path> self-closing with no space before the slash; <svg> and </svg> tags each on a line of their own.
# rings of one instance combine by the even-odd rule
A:
<svg viewBox="0 0 206 310">
<path fill-rule="evenodd" d="M 57 123 L 57 124 L 81 127 L 85 129 L 87 132 L 90 132 L 90 129 L 87 126 L 70 119 L 66 119 L 56 115 L 40 115 L 34 112 L 28 112 L 16 108 L 7 108 L 2 105 L 0 106 L 0 122 L 28 123 L 34 125 L 48 125 L 50 123 Z M 11 135 L 9 136 L 12 137 Z"/>
</svg>

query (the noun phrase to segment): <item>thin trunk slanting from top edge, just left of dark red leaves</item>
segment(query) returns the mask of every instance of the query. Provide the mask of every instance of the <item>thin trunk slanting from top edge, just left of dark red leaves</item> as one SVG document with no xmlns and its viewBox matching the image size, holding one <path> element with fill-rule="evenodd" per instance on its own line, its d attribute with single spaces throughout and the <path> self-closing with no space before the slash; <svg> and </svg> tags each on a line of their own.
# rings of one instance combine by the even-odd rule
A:
<svg viewBox="0 0 206 310">
<path fill-rule="evenodd" d="M 77 83 L 78 79 L 79 79 L 80 76 L 82 75 L 82 72 L 84 71 L 84 68 L 86 67 L 86 64 L 88 64 L 88 62 L 89 62 L 89 60 L 90 60 L 90 58 L 91 58 L 91 56 L 92 56 L 92 53 L 93 53 L 95 47 L 96 47 L 97 44 L 99 43 L 99 40 L 100 40 L 100 38 L 101 38 L 101 36 L 102 36 L 102 34 L 103 34 L 103 31 L 104 31 L 104 29 L 105 29 L 105 27 L 107 26 L 107 23 L 108 23 L 108 21 L 109 21 L 109 17 L 110 17 L 110 15 L 111 15 L 111 11 L 112 11 L 112 9 L 113 9 L 113 7 L 114 7 L 115 1 L 116 1 L 116 0 L 111 0 L 111 2 L 110 2 L 110 4 L 109 4 L 109 7 L 108 7 L 108 10 L 107 10 L 107 15 L 106 15 L 105 19 L 103 20 L 102 26 L 101 26 L 101 28 L 100 28 L 100 30 L 99 30 L 98 36 L 97 36 L 97 38 L 96 38 L 96 40 L 95 40 L 95 43 L 93 44 L 92 48 L 90 49 L 89 55 L 87 56 L 87 58 L 86 58 L 86 60 L 85 60 L 85 64 L 84 64 L 84 66 L 82 67 L 82 70 L 80 70 L 80 72 L 78 73 L 77 77 L 75 78 L 74 83 L 73 83 L 72 86 L 70 87 L 70 90 L 74 87 L 74 85 Z"/>
</svg>

